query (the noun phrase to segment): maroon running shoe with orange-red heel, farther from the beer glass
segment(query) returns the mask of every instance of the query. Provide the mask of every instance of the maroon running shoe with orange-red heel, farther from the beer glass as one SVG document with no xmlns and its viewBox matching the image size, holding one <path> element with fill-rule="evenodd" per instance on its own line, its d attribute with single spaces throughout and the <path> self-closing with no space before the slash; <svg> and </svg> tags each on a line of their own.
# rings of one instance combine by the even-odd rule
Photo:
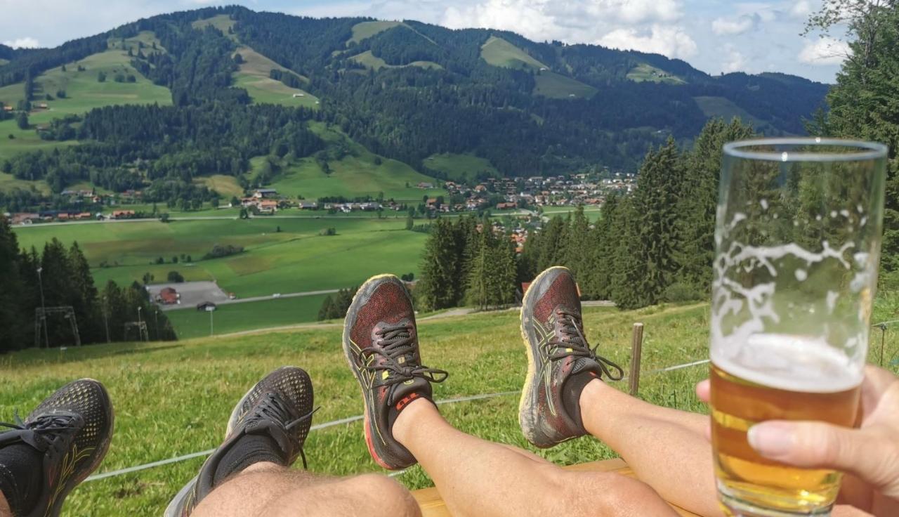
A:
<svg viewBox="0 0 899 517">
<path fill-rule="evenodd" d="M 365 441 L 383 468 L 406 468 L 415 459 L 391 429 L 396 416 L 416 398 L 431 400 L 432 382 L 447 372 L 422 366 L 412 299 L 391 274 L 362 284 L 343 320 L 343 354 L 365 399 Z"/>
</svg>

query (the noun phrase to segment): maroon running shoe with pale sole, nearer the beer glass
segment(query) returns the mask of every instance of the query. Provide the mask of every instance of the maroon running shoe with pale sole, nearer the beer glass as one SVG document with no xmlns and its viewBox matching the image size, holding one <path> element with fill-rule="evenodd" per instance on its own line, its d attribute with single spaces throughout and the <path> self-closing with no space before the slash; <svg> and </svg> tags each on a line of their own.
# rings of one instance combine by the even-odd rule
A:
<svg viewBox="0 0 899 517">
<path fill-rule="evenodd" d="M 547 448 L 583 436 L 583 387 L 592 379 L 622 379 L 624 371 L 587 343 L 581 298 L 567 268 L 551 267 L 531 282 L 521 303 L 521 337 L 528 349 L 518 410 L 525 438 Z"/>
</svg>

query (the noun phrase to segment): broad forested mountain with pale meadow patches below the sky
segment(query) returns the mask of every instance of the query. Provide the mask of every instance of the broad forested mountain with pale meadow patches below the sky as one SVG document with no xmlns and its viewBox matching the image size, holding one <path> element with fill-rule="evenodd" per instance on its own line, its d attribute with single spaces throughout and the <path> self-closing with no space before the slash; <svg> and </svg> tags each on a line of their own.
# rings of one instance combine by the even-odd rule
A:
<svg viewBox="0 0 899 517">
<path fill-rule="evenodd" d="M 0 121 L 16 142 L 0 143 L 0 167 L 57 192 L 209 174 L 247 182 L 254 156 L 288 167 L 314 158 L 327 174 L 356 144 L 438 177 L 448 173 L 433 156 L 476 157 L 467 162 L 506 175 L 635 170 L 649 147 L 689 142 L 709 117 L 801 134 L 828 89 L 509 31 L 238 6 L 162 14 L 56 49 L 0 47 L 0 58 L 0 102 L 31 109 L 38 129 Z M 171 105 L 151 88 L 166 88 Z"/>
</svg>

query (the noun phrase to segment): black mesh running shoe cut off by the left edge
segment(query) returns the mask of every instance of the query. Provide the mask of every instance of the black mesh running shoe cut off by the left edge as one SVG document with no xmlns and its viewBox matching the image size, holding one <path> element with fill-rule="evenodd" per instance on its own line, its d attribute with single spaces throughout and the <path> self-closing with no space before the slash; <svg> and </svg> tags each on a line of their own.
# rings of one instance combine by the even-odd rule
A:
<svg viewBox="0 0 899 517">
<path fill-rule="evenodd" d="M 80 379 L 59 388 L 22 422 L 0 423 L 0 449 L 24 443 L 43 454 L 37 505 L 21 517 L 57 517 L 66 496 L 85 480 L 109 450 L 112 404 L 102 384 Z"/>
</svg>

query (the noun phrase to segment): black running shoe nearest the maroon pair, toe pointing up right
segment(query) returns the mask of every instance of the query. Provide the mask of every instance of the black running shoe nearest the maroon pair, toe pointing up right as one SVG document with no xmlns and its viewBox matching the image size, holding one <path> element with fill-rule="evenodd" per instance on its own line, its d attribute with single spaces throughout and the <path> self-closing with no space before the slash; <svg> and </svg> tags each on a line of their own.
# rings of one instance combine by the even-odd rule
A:
<svg viewBox="0 0 899 517">
<path fill-rule="evenodd" d="M 312 380 L 305 370 L 286 366 L 272 371 L 246 392 L 234 406 L 228 419 L 225 441 L 200 467 L 200 474 L 191 479 L 165 508 L 165 517 L 187 517 L 204 497 L 227 476 L 236 474 L 256 462 L 275 461 L 289 467 L 298 457 L 307 467 L 303 443 L 312 425 Z M 240 468 L 221 472 L 235 464 L 229 456 L 240 447 L 246 437 L 268 437 L 276 446 L 264 450 L 263 458 L 245 458 L 236 463 Z"/>
</svg>

